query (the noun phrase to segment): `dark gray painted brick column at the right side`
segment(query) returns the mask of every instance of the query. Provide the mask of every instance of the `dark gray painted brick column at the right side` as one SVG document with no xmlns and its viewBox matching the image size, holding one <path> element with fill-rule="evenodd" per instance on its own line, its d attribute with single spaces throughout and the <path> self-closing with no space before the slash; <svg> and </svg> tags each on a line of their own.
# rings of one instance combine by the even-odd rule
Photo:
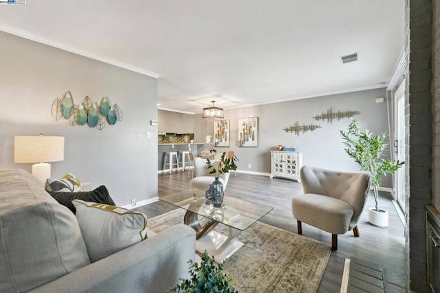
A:
<svg viewBox="0 0 440 293">
<path fill-rule="evenodd" d="M 426 292 L 426 223 L 425 206 L 432 202 L 432 12 L 440 0 L 410 0 L 409 39 L 410 64 L 408 88 L 409 131 L 406 133 L 409 152 L 406 154 L 409 171 L 407 237 L 409 246 L 410 290 Z M 408 10 L 407 10 L 408 12 Z M 408 21 L 408 14 L 407 19 Z M 434 54 L 435 56 L 435 54 Z M 435 71 L 434 71 L 435 72 Z M 408 129 L 408 128 L 407 128 Z M 437 150 L 440 155 L 440 148 Z M 407 182 L 408 184 L 408 182 Z M 407 209 L 408 212 L 408 209 Z M 409 233 L 408 233 L 409 232 Z"/>
</svg>

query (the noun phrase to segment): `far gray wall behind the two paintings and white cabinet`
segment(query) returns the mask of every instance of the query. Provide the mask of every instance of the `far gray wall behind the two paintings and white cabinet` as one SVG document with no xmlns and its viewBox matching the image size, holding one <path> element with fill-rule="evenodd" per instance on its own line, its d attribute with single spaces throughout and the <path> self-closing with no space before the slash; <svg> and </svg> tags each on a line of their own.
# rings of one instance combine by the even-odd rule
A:
<svg viewBox="0 0 440 293">
<path fill-rule="evenodd" d="M 340 171 L 360 171 L 353 159 L 344 152 L 339 133 L 340 129 L 347 130 L 351 120 L 349 118 L 333 120 L 333 124 L 330 124 L 327 120 L 316 121 L 312 117 L 327 112 L 330 107 L 333 111 L 360 111 L 360 114 L 353 118 L 360 122 L 362 129 L 366 128 L 376 133 L 386 132 L 388 131 L 386 102 L 376 103 L 377 97 L 386 97 L 386 90 L 371 89 L 227 110 L 225 119 L 230 120 L 231 145 L 230 148 L 217 146 L 216 149 L 235 151 L 239 158 L 238 169 L 241 171 L 270 173 L 270 151 L 275 149 L 276 144 L 296 146 L 298 150 L 303 151 L 304 164 Z M 237 119 L 254 116 L 259 117 L 259 146 L 239 147 Z M 322 128 L 300 133 L 299 136 L 283 131 L 295 121 L 319 124 Z M 212 120 L 201 118 L 201 114 L 196 115 L 196 137 L 204 138 L 205 135 L 212 135 L 212 132 Z M 205 144 L 200 150 L 210 148 L 209 144 Z M 386 155 L 389 155 L 389 150 L 386 151 Z M 251 168 L 248 168 L 248 164 L 251 164 Z M 392 186 L 391 176 L 384 177 L 382 186 Z"/>
</svg>

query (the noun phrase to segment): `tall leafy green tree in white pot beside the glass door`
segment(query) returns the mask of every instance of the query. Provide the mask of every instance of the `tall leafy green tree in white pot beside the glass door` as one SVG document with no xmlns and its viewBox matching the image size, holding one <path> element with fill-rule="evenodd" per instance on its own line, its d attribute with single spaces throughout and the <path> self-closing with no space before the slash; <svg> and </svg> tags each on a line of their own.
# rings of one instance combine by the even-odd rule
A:
<svg viewBox="0 0 440 293">
<path fill-rule="evenodd" d="M 359 122 L 352 119 L 348 131 L 340 131 L 344 140 L 344 151 L 355 160 L 360 169 L 371 174 L 371 184 L 373 185 L 375 207 L 369 208 L 369 221 L 379 227 L 388 226 L 388 212 L 379 208 L 378 188 L 382 181 L 381 175 L 394 174 L 404 162 L 392 163 L 384 160 L 382 156 L 388 146 L 386 142 L 387 133 L 371 133 L 368 129 L 360 131 Z"/>
</svg>

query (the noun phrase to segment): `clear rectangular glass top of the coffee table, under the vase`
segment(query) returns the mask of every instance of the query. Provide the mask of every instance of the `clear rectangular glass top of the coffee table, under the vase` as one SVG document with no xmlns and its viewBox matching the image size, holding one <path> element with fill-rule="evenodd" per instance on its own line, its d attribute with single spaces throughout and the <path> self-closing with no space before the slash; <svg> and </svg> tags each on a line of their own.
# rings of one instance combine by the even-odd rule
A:
<svg viewBox="0 0 440 293">
<path fill-rule="evenodd" d="M 205 191 L 199 189 L 181 191 L 159 199 L 238 230 L 249 228 L 273 209 L 271 206 L 246 202 L 228 195 L 223 197 L 223 205 L 217 208 L 206 204 Z"/>
</svg>

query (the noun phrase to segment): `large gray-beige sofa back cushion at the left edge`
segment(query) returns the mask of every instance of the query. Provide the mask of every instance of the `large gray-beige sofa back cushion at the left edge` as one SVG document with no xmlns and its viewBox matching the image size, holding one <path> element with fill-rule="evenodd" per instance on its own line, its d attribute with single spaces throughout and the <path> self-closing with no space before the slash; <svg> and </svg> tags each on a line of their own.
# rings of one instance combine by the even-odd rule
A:
<svg viewBox="0 0 440 293">
<path fill-rule="evenodd" d="M 26 292 L 90 263 L 76 217 L 23 170 L 0 170 L 0 288 Z"/>
</svg>

